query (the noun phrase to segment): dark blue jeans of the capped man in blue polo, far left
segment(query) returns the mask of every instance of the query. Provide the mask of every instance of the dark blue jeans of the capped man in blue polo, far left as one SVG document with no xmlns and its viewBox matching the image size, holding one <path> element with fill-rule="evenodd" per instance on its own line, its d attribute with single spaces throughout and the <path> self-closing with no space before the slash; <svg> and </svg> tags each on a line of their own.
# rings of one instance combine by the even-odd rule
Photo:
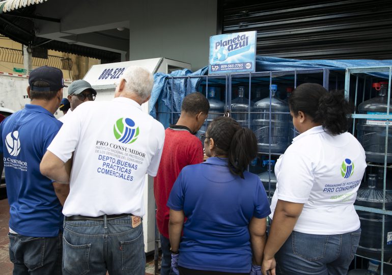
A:
<svg viewBox="0 0 392 275">
<path fill-rule="evenodd" d="M 13 275 L 62 274 L 62 234 L 57 237 L 27 237 L 8 233 Z"/>
</svg>

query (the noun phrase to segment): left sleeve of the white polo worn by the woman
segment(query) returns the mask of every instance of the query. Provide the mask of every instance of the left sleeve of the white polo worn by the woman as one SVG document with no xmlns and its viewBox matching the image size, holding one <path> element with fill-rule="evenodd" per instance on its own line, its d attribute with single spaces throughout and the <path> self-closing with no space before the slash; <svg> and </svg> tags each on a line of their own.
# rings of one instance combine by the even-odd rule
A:
<svg viewBox="0 0 392 275">
<path fill-rule="evenodd" d="M 303 152 L 289 149 L 275 166 L 277 198 L 287 202 L 306 203 L 314 183 L 313 163 Z"/>
</svg>

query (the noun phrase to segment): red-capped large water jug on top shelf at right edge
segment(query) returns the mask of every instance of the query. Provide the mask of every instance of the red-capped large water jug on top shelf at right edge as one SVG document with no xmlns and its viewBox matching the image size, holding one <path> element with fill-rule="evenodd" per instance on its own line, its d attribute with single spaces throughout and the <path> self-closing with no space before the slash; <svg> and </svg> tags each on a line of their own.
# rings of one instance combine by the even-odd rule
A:
<svg viewBox="0 0 392 275">
<path fill-rule="evenodd" d="M 359 114 L 386 115 L 388 82 L 373 83 L 373 88 L 379 92 L 378 96 L 359 104 L 358 112 Z M 392 107 L 392 100 L 389 102 Z M 367 161 L 384 163 L 385 151 L 387 151 L 386 162 L 392 162 L 392 123 L 389 122 L 388 148 L 385 150 L 386 123 L 386 120 L 383 119 L 358 120 L 357 137 L 365 149 Z"/>
</svg>

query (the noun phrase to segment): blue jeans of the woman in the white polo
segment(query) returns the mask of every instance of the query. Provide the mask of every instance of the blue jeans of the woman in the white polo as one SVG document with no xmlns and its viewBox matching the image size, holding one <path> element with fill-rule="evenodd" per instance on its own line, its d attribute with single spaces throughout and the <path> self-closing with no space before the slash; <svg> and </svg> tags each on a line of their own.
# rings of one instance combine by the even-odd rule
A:
<svg viewBox="0 0 392 275">
<path fill-rule="evenodd" d="M 360 228 L 337 235 L 293 231 L 275 255 L 276 274 L 346 275 L 354 259 L 360 233 Z"/>
</svg>

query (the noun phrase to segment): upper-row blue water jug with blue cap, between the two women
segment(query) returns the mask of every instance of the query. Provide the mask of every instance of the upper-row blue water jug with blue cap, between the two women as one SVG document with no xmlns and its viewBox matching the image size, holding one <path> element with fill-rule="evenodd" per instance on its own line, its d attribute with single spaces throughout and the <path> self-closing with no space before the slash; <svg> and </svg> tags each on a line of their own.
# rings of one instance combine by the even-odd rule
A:
<svg viewBox="0 0 392 275">
<path fill-rule="evenodd" d="M 259 152 L 268 153 L 271 148 L 271 153 L 284 153 L 288 146 L 289 104 L 275 97 L 277 85 L 271 85 L 270 90 L 271 98 L 259 100 L 254 105 L 253 128 Z"/>
</svg>

